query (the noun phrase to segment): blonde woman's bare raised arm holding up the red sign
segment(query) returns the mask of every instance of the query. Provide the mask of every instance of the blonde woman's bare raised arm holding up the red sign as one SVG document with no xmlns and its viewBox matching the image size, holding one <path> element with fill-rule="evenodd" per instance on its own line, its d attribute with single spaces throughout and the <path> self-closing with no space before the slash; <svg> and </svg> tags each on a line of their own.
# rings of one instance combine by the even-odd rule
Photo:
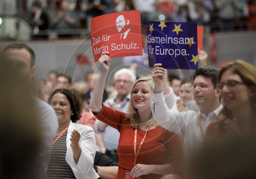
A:
<svg viewBox="0 0 256 179">
<path fill-rule="evenodd" d="M 101 72 L 99 80 L 96 82 L 93 89 L 91 99 L 90 99 L 90 109 L 94 114 L 99 114 L 102 111 L 102 97 L 103 90 L 106 81 L 106 75 L 108 75 L 110 68 L 110 57 L 108 56 L 109 52 L 103 52 L 99 58 L 99 64 L 101 67 Z"/>
</svg>

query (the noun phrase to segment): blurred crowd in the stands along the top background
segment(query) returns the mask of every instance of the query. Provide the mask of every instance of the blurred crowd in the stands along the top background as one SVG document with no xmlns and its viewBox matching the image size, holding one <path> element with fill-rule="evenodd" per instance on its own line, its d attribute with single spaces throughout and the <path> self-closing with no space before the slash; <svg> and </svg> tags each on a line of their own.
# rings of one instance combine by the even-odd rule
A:
<svg viewBox="0 0 256 179">
<path fill-rule="evenodd" d="M 143 25 L 163 20 L 197 22 L 210 31 L 255 30 L 256 26 L 255 0 L 36 0 L 28 1 L 28 6 L 33 40 L 48 39 L 49 29 L 59 38 L 79 37 L 78 29 L 90 31 L 91 18 L 131 10 L 140 10 Z"/>
</svg>

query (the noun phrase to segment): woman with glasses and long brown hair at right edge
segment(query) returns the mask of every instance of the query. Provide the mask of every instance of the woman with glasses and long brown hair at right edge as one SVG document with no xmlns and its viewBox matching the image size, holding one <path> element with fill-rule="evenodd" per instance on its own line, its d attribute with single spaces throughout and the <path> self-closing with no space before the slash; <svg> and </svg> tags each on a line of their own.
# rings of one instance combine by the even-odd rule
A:
<svg viewBox="0 0 256 179">
<path fill-rule="evenodd" d="M 243 60 L 221 68 L 219 88 L 224 108 L 221 120 L 207 128 L 207 138 L 229 139 L 255 133 L 256 69 Z"/>
</svg>

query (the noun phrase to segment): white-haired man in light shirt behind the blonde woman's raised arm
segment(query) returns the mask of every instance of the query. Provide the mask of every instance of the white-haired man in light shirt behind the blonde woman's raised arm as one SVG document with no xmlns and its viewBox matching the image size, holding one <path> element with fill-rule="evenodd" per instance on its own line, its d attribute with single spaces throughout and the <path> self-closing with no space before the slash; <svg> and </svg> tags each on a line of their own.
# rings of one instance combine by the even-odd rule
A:
<svg viewBox="0 0 256 179">
<path fill-rule="evenodd" d="M 136 80 L 136 76 L 133 71 L 127 68 L 122 68 L 114 74 L 115 88 L 117 95 L 106 99 L 104 105 L 111 109 L 127 112 L 130 101 L 130 90 L 133 82 Z M 104 132 L 103 142 L 106 148 L 105 154 L 108 155 L 115 162 L 118 162 L 117 146 L 119 141 L 119 132 L 114 127 L 107 125 L 106 123 L 96 120 L 95 121 L 96 133 Z"/>
</svg>

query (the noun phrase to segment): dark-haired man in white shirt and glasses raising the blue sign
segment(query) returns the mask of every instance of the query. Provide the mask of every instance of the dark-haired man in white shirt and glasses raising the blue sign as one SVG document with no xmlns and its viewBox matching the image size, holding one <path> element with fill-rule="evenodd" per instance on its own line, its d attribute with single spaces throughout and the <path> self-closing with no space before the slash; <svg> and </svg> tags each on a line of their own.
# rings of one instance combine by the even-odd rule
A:
<svg viewBox="0 0 256 179">
<path fill-rule="evenodd" d="M 192 76 L 193 95 L 200 112 L 179 112 L 169 110 L 164 103 L 163 79 L 165 75 L 162 64 L 155 64 L 152 77 L 155 82 L 151 99 L 153 118 L 170 132 L 175 132 L 183 140 L 186 169 L 191 156 L 203 146 L 207 126 L 218 119 L 222 109 L 220 90 L 217 88 L 218 70 L 211 66 L 200 66 Z"/>
</svg>

